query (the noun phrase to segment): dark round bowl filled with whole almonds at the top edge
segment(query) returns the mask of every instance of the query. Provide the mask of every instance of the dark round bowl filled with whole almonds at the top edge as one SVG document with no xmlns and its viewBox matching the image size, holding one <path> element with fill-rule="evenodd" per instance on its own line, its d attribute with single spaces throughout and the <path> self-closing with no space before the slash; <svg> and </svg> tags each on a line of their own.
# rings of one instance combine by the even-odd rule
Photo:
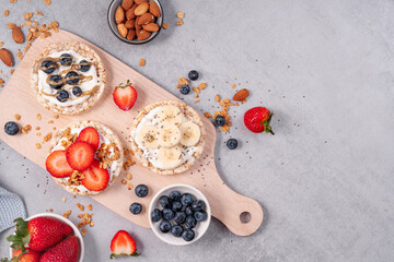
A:
<svg viewBox="0 0 394 262">
<path fill-rule="evenodd" d="M 139 45 L 160 33 L 163 10 L 159 0 L 114 0 L 108 9 L 108 24 L 123 41 Z"/>
</svg>

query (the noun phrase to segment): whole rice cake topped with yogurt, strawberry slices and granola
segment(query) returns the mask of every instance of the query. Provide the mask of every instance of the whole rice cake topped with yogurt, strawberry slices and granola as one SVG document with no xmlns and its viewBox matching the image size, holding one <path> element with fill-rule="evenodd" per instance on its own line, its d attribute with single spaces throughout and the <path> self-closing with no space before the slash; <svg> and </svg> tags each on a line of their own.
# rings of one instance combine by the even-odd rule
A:
<svg viewBox="0 0 394 262">
<path fill-rule="evenodd" d="M 97 194 L 111 187 L 124 165 L 124 148 L 113 130 L 95 121 L 73 122 L 51 140 L 46 169 L 73 194 Z"/>
</svg>

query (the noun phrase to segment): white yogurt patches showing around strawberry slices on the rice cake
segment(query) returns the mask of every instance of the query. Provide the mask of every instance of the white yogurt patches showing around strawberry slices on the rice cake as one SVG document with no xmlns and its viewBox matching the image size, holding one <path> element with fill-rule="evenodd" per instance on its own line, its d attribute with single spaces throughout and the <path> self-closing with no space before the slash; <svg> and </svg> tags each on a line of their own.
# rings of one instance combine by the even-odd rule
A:
<svg viewBox="0 0 394 262">
<path fill-rule="evenodd" d="M 79 134 L 79 133 L 82 131 L 82 129 L 84 129 L 84 127 L 83 127 L 83 128 L 71 128 L 71 132 L 70 132 L 70 133 L 71 133 L 71 134 L 74 134 L 74 133 Z M 99 132 L 99 135 L 100 135 L 100 145 L 99 145 L 99 148 L 102 146 L 102 144 L 111 144 L 111 143 L 112 143 L 106 136 L 102 135 L 99 130 L 97 130 L 97 132 Z M 59 140 L 59 142 L 54 146 L 53 152 L 54 152 L 54 151 L 66 150 L 65 146 L 61 144 L 62 141 L 66 141 L 66 142 L 67 142 L 67 139 L 66 139 L 66 138 L 61 138 L 61 139 Z M 115 155 L 115 152 L 114 152 L 114 148 L 112 147 L 112 148 L 109 150 L 108 156 L 111 157 L 111 156 L 113 156 L 113 155 Z M 97 159 L 97 160 L 100 160 L 96 155 L 95 155 L 94 158 Z M 108 170 L 108 172 L 109 172 L 109 181 L 112 181 L 114 175 L 116 174 L 116 170 L 117 170 L 119 164 L 120 164 L 120 162 L 119 162 L 119 159 L 117 159 L 117 160 L 113 160 L 112 164 L 108 166 L 107 170 Z M 88 191 L 90 191 L 90 190 L 86 189 L 82 183 L 79 184 L 79 186 L 74 186 L 74 184 L 73 184 L 73 186 L 68 186 L 68 184 L 67 184 L 67 181 L 68 181 L 68 179 L 69 179 L 68 177 L 66 177 L 66 178 L 56 178 L 56 179 L 57 179 L 58 181 L 60 181 L 60 182 L 65 182 L 65 183 L 66 183 L 66 187 L 67 187 L 68 189 L 69 189 L 69 188 L 77 188 L 80 192 L 88 192 Z"/>
</svg>

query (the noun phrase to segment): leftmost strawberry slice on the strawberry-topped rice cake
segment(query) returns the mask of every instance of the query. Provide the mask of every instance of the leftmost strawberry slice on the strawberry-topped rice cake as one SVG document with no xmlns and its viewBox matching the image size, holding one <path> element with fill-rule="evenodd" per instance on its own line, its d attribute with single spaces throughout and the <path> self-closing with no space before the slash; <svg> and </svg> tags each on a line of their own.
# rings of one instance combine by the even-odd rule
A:
<svg viewBox="0 0 394 262">
<path fill-rule="evenodd" d="M 66 151 L 54 151 L 45 162 L 46 169 L 53 177 L 69 177 L 73 169 L 67 163 Z"/>
</svg>

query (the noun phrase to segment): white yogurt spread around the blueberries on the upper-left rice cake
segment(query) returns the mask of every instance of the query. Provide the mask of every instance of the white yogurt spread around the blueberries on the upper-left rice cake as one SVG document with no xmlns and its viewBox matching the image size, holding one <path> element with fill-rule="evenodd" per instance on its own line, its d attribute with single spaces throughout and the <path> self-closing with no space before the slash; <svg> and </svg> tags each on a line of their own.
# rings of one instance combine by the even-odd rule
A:
<svg viewBox="0 0 394 262">
<path fill-rule="evenodd" d="M 50 53 L 48 57 L 58 59 L 62 53 L 68 53 L 72 57 L 72 64 L 79 64 L 79 62 L 81 60 L 88 60 L 88 61 L 92 62 L 90 59 L 82 57 L 81 55 L 77 53 L 74 50 L 54 52 L 54 53 Z M 43 70 L 37 71 L 39 93 L 43 95 L 43 97 L 45 97 L 45 99 L 47 99 L 49 102 L 49 104 L 55 104 L 60 107 L 77 106 L 77 105 L 85 102 L 91 96 L 90 93 L 94 93 L 95 88 L 97 88 L 99 79 L 97 79 L 96 68 L 93 66 L 93 63 L 91 63 L 91 67 L 86 72 L 79 72 L 84 75 L 84 80 L 80 81 L 77 86 L 81 87 L 84 95 L 74 96 L 71 92 L 71 90 L 74 85 L 69 85 L 66 83 L 62 88 L 65 88 L 69 92 L 70 97 L 66 102 L 59 102 L 56 98 L 58 91 L 54 90 L 49 86 L 49 84 L 47 83 L 47 79 L 49 78 L 49 75 L 55 75 L 55 74 L 59 74 L 61 72 L 69 71 L 70 66 L 65 67 L 60 63 L 58 63 L 58 66 L 59 67 L 51 74 L 47 74 Z M 66 75 L 66 73 L 61 74 L 61 76 L 65 76 L 65 75 Z"/>
</svg>

